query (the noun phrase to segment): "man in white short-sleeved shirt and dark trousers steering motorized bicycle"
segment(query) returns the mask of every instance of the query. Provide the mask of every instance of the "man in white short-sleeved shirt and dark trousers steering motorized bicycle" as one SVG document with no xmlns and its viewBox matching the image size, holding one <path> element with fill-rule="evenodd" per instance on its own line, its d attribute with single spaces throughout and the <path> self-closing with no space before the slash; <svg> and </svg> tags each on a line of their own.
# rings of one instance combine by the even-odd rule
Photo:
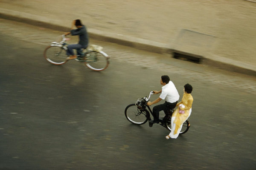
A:
<svg viewBox="0 0 256 170">
<path fill-rule="evenodd" d="M 152 127 L 154 123 L 159 123 L 159 112 L 164 111 L 164 113 L 168 113 L 170 109 L 174 109 L 177 105 L 177 102 L 180 98 L 180 95 L 173 84 L 172 81 L 170 81 L 169 76 L 162 76 L 160 80 L 160 84 L 163 85 L 162 89 L 160 91 L 153 91 L 154 94 L 160 94 L 160 96 L 155 99 L 153 102 L 148 102 L 147 105 L 153 105 L 155 103 L 160 102 L 162 99 L 166 102 L 160 105 L 156 105 L 153 108 L 152 116 L 154 117 L 154 120 L 149 121 L 149 126 Z"/>
</svg>

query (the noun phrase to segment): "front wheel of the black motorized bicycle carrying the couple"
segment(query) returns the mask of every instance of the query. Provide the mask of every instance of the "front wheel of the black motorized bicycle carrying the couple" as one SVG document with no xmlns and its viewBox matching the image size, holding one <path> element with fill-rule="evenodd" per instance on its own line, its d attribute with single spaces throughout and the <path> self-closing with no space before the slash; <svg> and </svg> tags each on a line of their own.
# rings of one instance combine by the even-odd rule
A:
<svg viewBox="0 0 256 170">
<path fill-rule="evenodd" d="M 143 125 L 147 122 L 147 114 L 148 112 L 146 110 L 137 108 L 135 104 L 128 105 L 125 108 L 126 119 L 135 125 Z"/>
</svg>

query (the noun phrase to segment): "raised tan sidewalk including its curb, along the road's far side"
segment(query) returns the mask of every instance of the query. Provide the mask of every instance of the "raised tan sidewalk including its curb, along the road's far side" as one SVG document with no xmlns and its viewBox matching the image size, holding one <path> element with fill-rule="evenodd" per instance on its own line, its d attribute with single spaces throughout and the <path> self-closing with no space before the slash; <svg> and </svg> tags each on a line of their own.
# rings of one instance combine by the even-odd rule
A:
<svg viewBox="0 0 256 170">
<path fill-rule="evenodd" d="M 185 51 L 202 64 L 256 75 L 256 3 L 246 0 L 0 0 L 0 17 L 59 31 L 79 18 L 96 40 Z"/>
</svg>

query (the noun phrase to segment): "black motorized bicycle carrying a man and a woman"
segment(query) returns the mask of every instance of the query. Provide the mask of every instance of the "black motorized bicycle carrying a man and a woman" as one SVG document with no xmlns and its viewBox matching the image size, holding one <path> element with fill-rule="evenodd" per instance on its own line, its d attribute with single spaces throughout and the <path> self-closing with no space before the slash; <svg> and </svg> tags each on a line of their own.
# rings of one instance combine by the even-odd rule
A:
<svg viewBox="0 0 256 170">
<path fill-rule="evenodd" d="M 147 102 L 150 99 L 151 94 L 154 94 L 153 91 L 149 93 L 149 96 L 145 96 L 144 98 L 139 98 L 136 103 L 130 104 L 125 108 L 125 117 L 129 122 L 135 125 L 143 125 L 147 121 L 151 120 L 150 113 L 152 114 L 151 108 L 147 105 Z M 165 127 L 167 130 L 172 131 L 172 113 L 174 110 L 170 110 L 169 113 L 166 113 L 166 116 L 159 117 L 159 124 Z M 190 122 L 187 119 L 186 122 L 183 123 L 183 126 L 180 130 L 180 134 L 184 134 L 189 130 Z"/>
</svg>

